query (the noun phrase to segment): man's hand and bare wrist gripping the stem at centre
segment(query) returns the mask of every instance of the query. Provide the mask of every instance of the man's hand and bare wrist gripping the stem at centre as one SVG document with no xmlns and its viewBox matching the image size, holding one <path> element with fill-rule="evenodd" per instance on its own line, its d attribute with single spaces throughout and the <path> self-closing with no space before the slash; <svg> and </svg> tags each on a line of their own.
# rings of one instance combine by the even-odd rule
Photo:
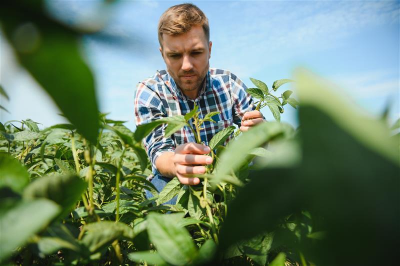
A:
<svg viewBox="0 0 400 266">
<path fill-rule="evenodd" d="M 204 165 L 212 163 L 212 157 L 204 155 L 210 148 L 203 144 L 188 142 L 180 144 L 174 152 L 166 151 L 159 155 L 155 161 L 157 170 L 164 176 L 176 176 L 182 184 L 198 184 L 198 177 L 188 174 L 205 173 Z"/>
</svg>

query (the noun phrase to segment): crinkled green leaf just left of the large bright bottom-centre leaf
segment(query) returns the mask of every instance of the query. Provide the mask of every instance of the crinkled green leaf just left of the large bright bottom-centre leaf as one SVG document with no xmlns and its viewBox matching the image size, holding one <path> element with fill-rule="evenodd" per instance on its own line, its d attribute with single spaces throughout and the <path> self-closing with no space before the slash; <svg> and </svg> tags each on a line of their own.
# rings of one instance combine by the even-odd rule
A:
<svg viewBox="0 0 400 266">
<path fill-rule="evenodd" d="M 86 224 L 83 229 L 85 234 L 81 243 L 90 252 L 95 252 L 102 247 L 108 246 L 115 239 L 131 240 L 134 237 L 133 229 L 122 222 L 97 221 Z"/>
</svg>

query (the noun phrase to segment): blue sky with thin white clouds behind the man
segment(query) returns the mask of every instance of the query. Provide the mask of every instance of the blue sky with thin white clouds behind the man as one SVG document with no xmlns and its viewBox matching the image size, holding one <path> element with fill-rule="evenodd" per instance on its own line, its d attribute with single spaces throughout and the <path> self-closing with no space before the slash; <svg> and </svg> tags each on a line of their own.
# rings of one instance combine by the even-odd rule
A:
<svg viewBox="0 0 400 266">
<path fill-rule="evenodd" d="M 129 128 L 134 128 L 135 84 L 165 68 L 158 51 L 158 18 L 167 7 L 181 2 L 117 1 L 108 10 L 105 31 L 123 41 L 82 39 L 100 110 L 110 112 L 110 118 L 127 120 Z M 231 70 L 247 86 L 252 86 L 249 77 L 271 86 L 305 66 L 338 84 L 340 93 L 372 115 L 390 101 L 390 118 L 400 116 L 399 1 L 192 2 L 209 19 L 211 67 Z M 93 21 L 102 13 L 97 1 L 53 0 L 48 6 L 70 23 Z M 14 65 L 1 39 L 0 82 L 10 88 L 10 101 L 2 99 L 1 104 L 11 114 L 2 111 L 0 120 L 30 117 L 44 126 L 63 121 L 51 100 Z M 263 113 L 273 119 L 269 110 Z M 288 107 L 282 120 L 296 124 L 295 112 Z"/>
</svg>

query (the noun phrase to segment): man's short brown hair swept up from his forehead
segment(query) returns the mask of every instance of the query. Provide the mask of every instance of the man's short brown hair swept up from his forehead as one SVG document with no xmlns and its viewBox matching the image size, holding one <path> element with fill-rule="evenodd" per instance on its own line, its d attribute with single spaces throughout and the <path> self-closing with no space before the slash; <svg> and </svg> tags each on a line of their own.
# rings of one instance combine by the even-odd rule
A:
<svg viewBox="0 0 400 266">
<path fill-rule="evenodd" d="M 162 34 L 179 35 L 189 31 L 194 25 L 202 26 L 207 41 L 209 41 L 208 19 L 200 8 L 192 3 L 182 3 L 169 7 L 159 18 L 159 45 L 162 47 Z"/>
</svg>

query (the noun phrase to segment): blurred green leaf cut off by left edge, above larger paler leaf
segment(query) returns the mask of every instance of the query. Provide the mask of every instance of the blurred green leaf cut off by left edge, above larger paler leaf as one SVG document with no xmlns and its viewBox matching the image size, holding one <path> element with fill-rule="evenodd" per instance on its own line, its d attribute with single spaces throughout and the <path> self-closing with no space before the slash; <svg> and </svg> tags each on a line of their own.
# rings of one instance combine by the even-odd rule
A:
<svg viewBox="0 0 400 266">
<path fill-rule="evenodd" d="M 29 173 L 22 164 L 4 153 L 0 153 L 0 188 L 10 187 L 17 193 L 29 183 Z"/>
</svg>

